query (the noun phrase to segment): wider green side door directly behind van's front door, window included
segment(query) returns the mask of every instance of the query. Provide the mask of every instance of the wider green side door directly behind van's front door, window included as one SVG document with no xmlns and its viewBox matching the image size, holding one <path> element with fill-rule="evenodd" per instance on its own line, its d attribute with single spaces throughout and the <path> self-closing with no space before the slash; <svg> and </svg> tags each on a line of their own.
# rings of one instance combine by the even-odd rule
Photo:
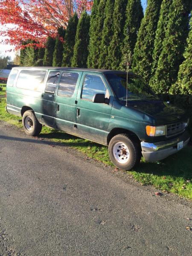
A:
<svg viewBox="0 0 192 256">
<path fill-rule="evenodd" d="M 59 130 L 76 134 L 76 97 L 82 71 L 61 71 L 55 98 L 55 122 Z"/>
</svg>

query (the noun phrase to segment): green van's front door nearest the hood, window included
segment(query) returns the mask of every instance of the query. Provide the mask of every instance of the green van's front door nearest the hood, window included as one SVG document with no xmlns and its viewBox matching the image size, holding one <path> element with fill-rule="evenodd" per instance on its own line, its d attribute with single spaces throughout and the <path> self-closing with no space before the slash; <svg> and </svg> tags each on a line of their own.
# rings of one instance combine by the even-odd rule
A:
<svg viewBox="0 0 192 256">
<path fill-rule="evenodd" d="M 99 73 L 84 72 L 79 87 L 76 105 L 78 134 L 84 138 L 104 143 L 108 134 L 113 97 L 105 85 L 105 77 Z M 109 104 L 94 103 L 93 96 L 104 93 Z"/>
</svg>

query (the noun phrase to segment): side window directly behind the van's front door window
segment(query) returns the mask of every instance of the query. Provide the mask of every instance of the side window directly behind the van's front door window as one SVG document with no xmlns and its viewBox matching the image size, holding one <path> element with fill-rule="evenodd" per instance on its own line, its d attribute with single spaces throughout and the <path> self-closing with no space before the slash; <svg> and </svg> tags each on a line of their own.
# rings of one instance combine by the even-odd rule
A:
<svg viewBox="0 0 192 256">
<path fill-rule="evenodd" d="M 72 97 L 78 80 L 78 73 L 63 72 L 58 86 L 59 96 Z"/>
</svg>

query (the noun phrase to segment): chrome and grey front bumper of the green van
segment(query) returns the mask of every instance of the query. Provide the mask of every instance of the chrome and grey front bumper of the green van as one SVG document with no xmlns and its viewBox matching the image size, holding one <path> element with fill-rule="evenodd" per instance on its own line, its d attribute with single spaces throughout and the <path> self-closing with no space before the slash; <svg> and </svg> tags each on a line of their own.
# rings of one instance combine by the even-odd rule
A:
<svg viewBox="0 0 192 256">
<path fill-rule="evenodd" d="M 177 143 L 183 141 L 184 148 L 188 144 L 189 140 L 189 134 L 185 131 L 180 136 L 165 141 L 155 143 L 148 143 L 142 141 L 142 154 L 146 161 L 159 161 L 180 151 L 177 150 Z"/>
</svg>

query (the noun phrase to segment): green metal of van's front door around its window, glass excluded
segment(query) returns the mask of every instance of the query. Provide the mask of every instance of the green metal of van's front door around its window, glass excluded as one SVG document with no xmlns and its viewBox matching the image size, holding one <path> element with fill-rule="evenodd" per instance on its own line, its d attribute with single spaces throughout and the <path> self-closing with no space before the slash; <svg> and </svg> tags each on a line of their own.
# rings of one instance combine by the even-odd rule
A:
<svg viewBox="0 0 192 256">
<path fill-rule="evenodd" d="M 82 87 L 86 75 L 99 76 L 105 84 L 106 90 L 109 93 L 109 104 L 98 104 L 93 101 L 81 99 Z M 105 143 L 104 140 L 108 136 L 108 124 L 111 116 L 113 104 L 113 94 L 108 87 L 105 77 L 101 73 L 84 72 L 81 77 L 77 104 L 76 104 L 76 130 L 78 134 L 91 140 L 96 140 L 100 143 Z"/>
</svg>

